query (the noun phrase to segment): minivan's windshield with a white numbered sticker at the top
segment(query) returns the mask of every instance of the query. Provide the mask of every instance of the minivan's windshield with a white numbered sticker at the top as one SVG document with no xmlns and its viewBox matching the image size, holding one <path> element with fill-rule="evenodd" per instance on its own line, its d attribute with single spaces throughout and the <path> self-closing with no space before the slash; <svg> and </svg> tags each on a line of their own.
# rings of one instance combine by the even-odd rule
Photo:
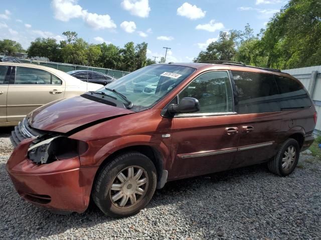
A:
<svg viewBox="0 0 321 240">
<path fill-rule="evenodd" d="M 97 90 L 115 97 L 124 104 L 124 95 L 135 107 L 149 108 L 191 75 L 195 68 L 178 65 L 149 65 L 125 75 Z M 110 91 L 116 90 L 116 92 Z"/>
</svg>

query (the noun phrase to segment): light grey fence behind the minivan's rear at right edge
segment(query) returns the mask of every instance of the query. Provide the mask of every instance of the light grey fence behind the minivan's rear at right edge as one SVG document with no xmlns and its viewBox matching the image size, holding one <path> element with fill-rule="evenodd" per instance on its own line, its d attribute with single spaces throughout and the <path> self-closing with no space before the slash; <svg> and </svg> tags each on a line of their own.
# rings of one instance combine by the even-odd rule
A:
<svg viewBox="0 0 321 240">
<path fill-rule="evenodd" d="M 321 66 L 308 66 L 282 71 L 299 79 L 309 92 L 317 111 L 317 122 L 314 132 L 321 135 Z"/>
</svg>

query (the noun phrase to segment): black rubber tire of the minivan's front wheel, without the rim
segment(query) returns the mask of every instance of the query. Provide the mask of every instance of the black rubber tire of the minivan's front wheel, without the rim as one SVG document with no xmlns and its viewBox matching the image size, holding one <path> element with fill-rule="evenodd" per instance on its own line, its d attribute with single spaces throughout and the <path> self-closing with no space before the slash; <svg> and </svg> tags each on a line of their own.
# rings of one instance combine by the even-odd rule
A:
<svg viewBox="0 0 321 240">
<path fill-rule="evenodd" d="M 137 200 L 137 203 L 134 205 L 127 208 L 121 208 L 119 205 L 117 206 L 117 203 L 113 202 L 111 199 L 113 193 L 111 190 L 111 185 L 115 183 L 117 175 L 120 172 L 125 171 L 123 169 L 132 166 L 143 168 L 144 171 L 142 174 L 148 176 L 145 185 L 146 188 L 144 189 L 145 193 L 143 196 L 140 196 L 139 200 Z M 111 217 L 130 216 L 136 214 L 147 205 L 156 189 L 156 182 L 156 168 L 152 161 L 146 155 L 140 152 L 127 152 L 116 156 L 102 167 L 93 185 L 93 200 L 100 210 L 106 215 Z"/>
</svg>

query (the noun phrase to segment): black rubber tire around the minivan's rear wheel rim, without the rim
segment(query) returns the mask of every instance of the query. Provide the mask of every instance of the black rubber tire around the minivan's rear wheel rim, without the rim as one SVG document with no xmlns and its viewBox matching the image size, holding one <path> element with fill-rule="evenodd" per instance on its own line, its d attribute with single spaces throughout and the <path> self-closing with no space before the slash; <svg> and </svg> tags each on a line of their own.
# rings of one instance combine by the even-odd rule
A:
<svg viewBox="0 0 321 240">
<path fill-rule="evenodd" d="M 282 167 L 282 158 L 284 157 L 284 152 L 291 146 L 295 148 L 295 159 L 288 168 L 284 168 Z M 300 147 L 298 142 L 293 138 L 288 138 L 286 141 L 283 142 L 275 157 L 267 163 L 267 167 L 271 172 L 279 176 L 286 176 L 290 174 L 296 167 L 299 156 Z"/>
</svg>

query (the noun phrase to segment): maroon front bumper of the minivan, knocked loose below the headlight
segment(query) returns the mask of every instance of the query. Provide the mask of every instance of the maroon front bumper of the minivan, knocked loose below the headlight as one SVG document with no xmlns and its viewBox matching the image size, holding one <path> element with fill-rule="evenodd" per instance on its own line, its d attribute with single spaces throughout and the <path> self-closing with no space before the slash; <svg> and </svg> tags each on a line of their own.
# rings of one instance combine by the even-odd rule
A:
<svg viewBox="0 0 321 240">
<path fill-rule="evenodd" d="M 20 196 L 56 211 L 85 211 L 98 166 L 81 167 L 79 156 L 37 164 L 28 157 L 34 139 L 22 140 L 6 165 Z"/>
</svg>

